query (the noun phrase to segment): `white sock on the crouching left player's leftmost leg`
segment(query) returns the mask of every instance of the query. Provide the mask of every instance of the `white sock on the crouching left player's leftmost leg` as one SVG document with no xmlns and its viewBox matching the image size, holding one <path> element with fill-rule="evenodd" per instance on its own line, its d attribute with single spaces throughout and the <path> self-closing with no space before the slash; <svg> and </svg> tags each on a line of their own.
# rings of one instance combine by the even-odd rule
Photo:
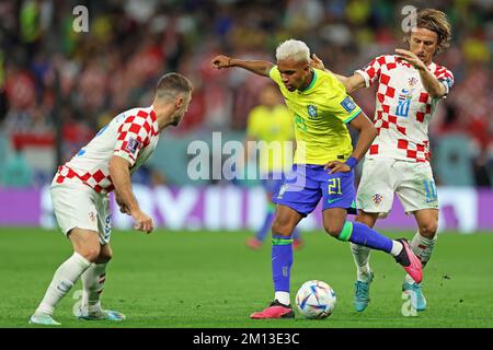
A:
<svg viewBox="0 0 493 350">
<path fill-rule="evenodd" d="M 45 298 L 37 306 L 35 315 L 53 315 L 55 306 L 70 291 L 83 271 L 91 265 L 82 255 L 73 253 L 55 271 L 51 282 L 46 290 Z"/>
</svg>

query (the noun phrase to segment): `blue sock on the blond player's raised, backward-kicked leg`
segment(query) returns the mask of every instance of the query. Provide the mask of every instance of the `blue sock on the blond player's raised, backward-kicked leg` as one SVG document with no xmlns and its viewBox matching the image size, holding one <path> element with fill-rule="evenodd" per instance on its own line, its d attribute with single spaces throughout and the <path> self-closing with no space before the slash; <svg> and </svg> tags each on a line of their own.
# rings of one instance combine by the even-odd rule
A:
<svg viewBox="0 0 493 350">
<path fill-rule="evenodd" d="M 349 241 L 365 247 L 387 253 L 392 250 L 392 240 L 359 222 L 346 221 L 337 240 L 345 242 Z"/>
</svg>

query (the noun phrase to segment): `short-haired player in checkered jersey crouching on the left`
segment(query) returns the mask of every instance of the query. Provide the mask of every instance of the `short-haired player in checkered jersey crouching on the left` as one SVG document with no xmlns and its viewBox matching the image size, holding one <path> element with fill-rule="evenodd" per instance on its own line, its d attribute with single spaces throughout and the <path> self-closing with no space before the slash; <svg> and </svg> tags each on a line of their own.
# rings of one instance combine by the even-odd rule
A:
<svg viewBox="0 0 493 350">
<path fill-rule="evenodd" d="M 159 133 L 179 125 L 191 98 L 192 84 L 186 78 L 163 75 L 150 107 L 121 113 L 59 167 L 50 192 L 58 224 L 72 243 L 73 255 L 56 270 L 31 324 L 60 325 L 53 313 L 79 277 L 83 287 L 76 315 L 79 319 L 125 319 L 100 303 L 112 258 L 108 194 L 115 190 L 119 210 L 133 217 L 136 230 L 153 230 L 152 219 L 139 208 L 131 191 L 130 175 L 156 149 Z"/>
</svg>

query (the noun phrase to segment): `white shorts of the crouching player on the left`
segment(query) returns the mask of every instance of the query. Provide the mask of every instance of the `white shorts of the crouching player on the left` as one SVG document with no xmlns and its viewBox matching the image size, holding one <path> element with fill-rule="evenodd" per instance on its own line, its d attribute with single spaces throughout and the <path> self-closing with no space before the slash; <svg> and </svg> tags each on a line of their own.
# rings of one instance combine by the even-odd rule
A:
<svg viewBox="0 0 493 350">
<path fill-rule="evenodd" d="M 58 225 L 65 235 L 79 228 L 98 232 L 102 245 L 110 243 L 112 218 L 107 195 L 69 179 L 62 184 L 54 182 L 49 191 Z"/>
</svg>

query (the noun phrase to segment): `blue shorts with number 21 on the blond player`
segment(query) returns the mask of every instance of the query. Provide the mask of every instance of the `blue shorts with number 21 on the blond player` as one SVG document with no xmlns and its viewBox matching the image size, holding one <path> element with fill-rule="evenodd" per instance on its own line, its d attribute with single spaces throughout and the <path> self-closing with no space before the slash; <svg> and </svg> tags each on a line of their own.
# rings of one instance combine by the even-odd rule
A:
<svg viewBox="0 0 493 350">
<path fill-rule="evenodd" d="M 348 213 L 356 214 L 355 197 L 353 171 L 329 174 L 323 165 L 295 164 L 272 201 L 308 215 L 322 198 L 322 210 L 344 208 Z"/>
</svg>

